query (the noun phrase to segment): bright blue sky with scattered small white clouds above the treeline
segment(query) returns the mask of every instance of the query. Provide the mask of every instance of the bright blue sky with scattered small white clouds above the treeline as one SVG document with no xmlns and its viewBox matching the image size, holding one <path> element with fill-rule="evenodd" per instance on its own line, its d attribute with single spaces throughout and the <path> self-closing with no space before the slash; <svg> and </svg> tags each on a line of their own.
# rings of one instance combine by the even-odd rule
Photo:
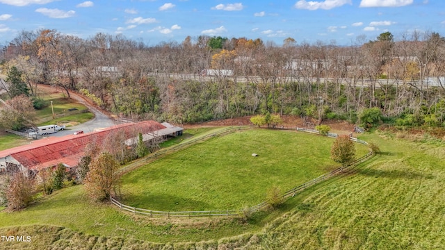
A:
<svg viewBox="0 0 445 250">
<path fill-rule="evenodd" d="M 0 44 L 40 28 L 81 38 L 122 33 L 149 45 L 181 42 L 187 35 L 348 45 L 360 35 L 374 40 L 386 31 L 396 40 L 413 31 L 445 36 L 445 1 L 0 0 Z"/>
</svg>

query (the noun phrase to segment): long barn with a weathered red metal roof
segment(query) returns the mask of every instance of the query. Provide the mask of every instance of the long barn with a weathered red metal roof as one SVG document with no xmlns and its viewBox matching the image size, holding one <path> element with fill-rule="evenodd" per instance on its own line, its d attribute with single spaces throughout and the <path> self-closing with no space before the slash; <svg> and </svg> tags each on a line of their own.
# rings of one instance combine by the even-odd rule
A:
<svg viewBox="0 0 445 250">
<path fill-rule="evenodd" d="M 81 135 L 65 135 L 61 138 L 49 137 L 32 141 L 13 149 L 0 151 L 0 172 L 15 172 L 20 170 L 27 174 L 38 172 L 40 169 L 53 167 L 59 163 L 68 169 L 76 167 L 84 156 L 88 144 L 104 143 L 110 135 L 119 134 L 124 137 L 128 147 L 137 143 L 139 133 L 149 140 L 163 141 L 167 136 L 181 135 L 183 128 L 172 124 L 160 124 L 154 121 L 145 121 L 131 124 L 120 124 L 104 128 L 101 131 Z"/>
</svg>

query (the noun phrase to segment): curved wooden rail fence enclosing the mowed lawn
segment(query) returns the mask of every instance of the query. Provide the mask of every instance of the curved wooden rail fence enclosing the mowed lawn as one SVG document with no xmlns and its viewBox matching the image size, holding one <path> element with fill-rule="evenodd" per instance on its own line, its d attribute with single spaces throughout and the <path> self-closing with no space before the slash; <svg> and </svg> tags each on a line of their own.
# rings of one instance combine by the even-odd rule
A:
<svg viewBox="0 0 445 250">
<path fill-rule="evenodd" d="M 187 142 L 186 144 L 184 144 L 186 146 L 182 146 L 181 144 L 178 144 L 177 147 L 175 147 L 175 149 L 169 150 L 168 152 L 172 153 L 172 152 L 178 151 L 179 149 L 183 149 L 184 147 L 190 146 L 191 144 L 195 144 L 197 142 L 202 142 L 202 141 L 212 138 L 214 136 L 223 135 L 226 133 L 232 133 L 233 131 L 235 131 L 237 129 L 239 130 L 241 128 L 245 129 L 245 128 L 250 128 L 250 127 L 242 127 L 242 126 L 241 127 L 229 127 L 227 129 L 224 129 L 223 131 L 218 131 L 217 133 L 213 133 L 211 135 L 206 135 L 202 138 L 197 138 L 193 141 Z M 296 131 L 302 131 L 302 132 L 306 132 L 306 133 L 317 133 L 317 134 L 319 133 L 319 131 L 316 131 L 314 129 L 298 128 L 298 127 L 296 128 Z M 338 135 L 335 133 L 329 133 L 327 136 L 330 138 L 338 137 Z M 360 143 L 360 144 L 364 144 L 366 146 L 369 145 L 368 142 L 365 142 L 364 140 L 359 140 L 357 138 L 350 137 L 349 140 L 351 140 L 353 142 Z M 181 145 L 181 147 L 178 149 L 179 145 Z M 163 152 L 157 156 L 165 156 L 165 153 L 167 153 L 167 152 Z M 156 153 L 154 153 L 154 155 L 156 155 Z M 371 156 L 373 156 L 373 152 L 370 150 L 369 153 L 366 153 L 366 155 L 354 160 L 354 162 L 351 163 L 350 165 L 348 165 L 346 167 L 339 167 L 327 174 L 323 174 L 322 176 L 318 176 L 317 178 L 314 178 L 311 181 L 307 181 L 301 185 L 298 185 L 297 187 L 292 188 L 291 190 L 282 192 L 282 194 L 280 194 L 280 197 L 282 199 L 294 197 L 296 194 L 298 194 L 298 192 L 301 192 L 302 190 L 305 190 L 306 188 L 309 188 L 312 185 L 321 183 L 322 181 L 325 181 L 325 180 L 331 178 L 332 176 L 338 174 L 339 172 L 342 172 L 343 169 L 347 169 L 349 167 L 355 167 L 359 163 L 363 163 L 365 160 L 368 160 L 369 158 L 371 158 Z M 156 156 L 152 156 L 150 158 L 150 160 L 156 160 L 156 159 L 157 159 Z M 148 209 L 143 209 L 143 208 L 135 208 L 135 207 L 127 206 L 127 205 L 120 203 L 118 200 L 114 199 L 113 197 L 110 197 L 110 201 L 113 205 L 118 206 L 121 210 L 127 210 L 134 214 L 149 215 L 150 217 L 156 217 L 156 216 L 157 217 L 168 217 L 168 218 L 170 218 L 170 217 L 213 217 L 213 216 L 233 217 L 233 216 L 240 216 L 243 213 L 243 210 L 165 212 L 165 211 L 148 210 Z M 253 212 L 262 210 L 264 208 L 267 208 L 268 206 L 269 206 L 268 201 L 263 201 L 255 206 L 248 208 L 248 211 L 250 213 L 253 213 Z"/>
</svg>

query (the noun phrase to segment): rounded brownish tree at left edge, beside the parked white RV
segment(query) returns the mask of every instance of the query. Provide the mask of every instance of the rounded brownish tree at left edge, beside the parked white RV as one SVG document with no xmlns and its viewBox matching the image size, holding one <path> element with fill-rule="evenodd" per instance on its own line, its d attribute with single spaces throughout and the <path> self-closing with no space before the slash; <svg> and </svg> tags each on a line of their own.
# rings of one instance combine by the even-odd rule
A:
<svg viewBox="0 0 445 250">
<path fill-rule="evenodd" d="M 23 95 L 6 101 L 0 109 L 0 125 L 19 131 L 26 126 L 33 126 L 35 122 L 35 110 L 33 103 Z"/>
</svg>

